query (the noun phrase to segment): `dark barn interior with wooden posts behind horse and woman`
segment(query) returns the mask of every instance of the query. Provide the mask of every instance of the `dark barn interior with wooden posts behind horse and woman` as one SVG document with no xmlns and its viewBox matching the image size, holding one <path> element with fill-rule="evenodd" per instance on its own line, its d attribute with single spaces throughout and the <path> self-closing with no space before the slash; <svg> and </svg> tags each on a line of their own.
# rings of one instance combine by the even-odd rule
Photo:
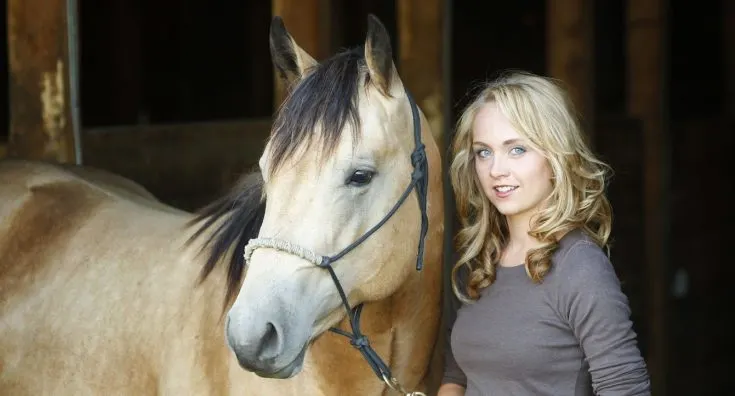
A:
<svg viewBox="0 0 735 396">
<path fill-rule="evenodd" d="M 731 388 L 735 1 L 2 2 L 0 157 L 111 170 L 185 209 L 257 161 L 282 97 L 272 15 L 322 59 L 376 14 L 443 148 L 477 82 L 561 78 L 616 171 L 613 261 L 654 394 Z"/>
</svg>

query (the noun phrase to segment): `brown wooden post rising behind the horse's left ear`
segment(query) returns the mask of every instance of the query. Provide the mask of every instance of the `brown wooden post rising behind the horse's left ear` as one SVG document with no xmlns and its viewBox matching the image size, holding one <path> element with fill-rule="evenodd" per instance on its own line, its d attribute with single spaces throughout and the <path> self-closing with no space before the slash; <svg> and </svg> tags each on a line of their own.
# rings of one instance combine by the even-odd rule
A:
<svg viewBox="0 0 735 396">
<path fill-rule="evenodd" d="M 331 1 L 330 0 L 273 0 L 273 16 L 283 18 L 288 32 L 314 59 L 321 61 L 331 55 Z M 273 105 L 283 102 L 284 85 L 278 73 L 274 74 Z"/>
</svg>

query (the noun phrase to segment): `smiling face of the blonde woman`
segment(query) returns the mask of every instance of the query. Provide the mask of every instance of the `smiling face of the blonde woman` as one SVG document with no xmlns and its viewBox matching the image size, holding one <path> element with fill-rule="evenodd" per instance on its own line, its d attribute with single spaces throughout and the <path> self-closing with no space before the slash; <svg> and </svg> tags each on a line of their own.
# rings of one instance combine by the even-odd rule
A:
<svg viewBox="0 0 735 396">
<path fill-rule="evenodd" d="M 530 220 L 552 191 L 552 171 L 494 102 L 485 104 L 472 127 L 475 170 L 490 202 L 509 222 Z"/>
</svg>

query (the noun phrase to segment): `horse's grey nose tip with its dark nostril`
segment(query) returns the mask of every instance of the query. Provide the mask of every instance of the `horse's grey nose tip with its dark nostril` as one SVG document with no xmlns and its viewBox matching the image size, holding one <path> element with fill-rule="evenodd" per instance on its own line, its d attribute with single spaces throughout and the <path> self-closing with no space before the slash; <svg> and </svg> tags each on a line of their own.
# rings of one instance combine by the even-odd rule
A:
<svg viewBox="0 0 735 396">
<path fill-rule="evenodd" d="M 238 334 L 232 326 L 233 318 L 227 315 L 227 344 L 237 357 L 240 366 L 254 372 L 273 370 L 277 358 L 284 351 L 283 331 L 274 322 L 263 321 L 262 324 L 250 324 L 248 333 Z"/>
</svg>

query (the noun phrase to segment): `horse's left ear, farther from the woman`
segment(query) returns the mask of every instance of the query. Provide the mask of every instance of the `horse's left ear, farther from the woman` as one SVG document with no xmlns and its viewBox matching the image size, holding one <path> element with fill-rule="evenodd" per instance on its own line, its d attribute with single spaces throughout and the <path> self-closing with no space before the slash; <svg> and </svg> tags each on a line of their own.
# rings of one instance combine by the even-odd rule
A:
<svg viewBox="0 0 735 396">
<path fill-rule="evenodd" d="M 318 64 L 296 44 L 296 40 L 288 33 L 283 19 L 279 16 L 271 21 L 270 50 L 271 59 L 278 73 L 289 84 L 300 80 L 309 69 Z"/>
</svg>

